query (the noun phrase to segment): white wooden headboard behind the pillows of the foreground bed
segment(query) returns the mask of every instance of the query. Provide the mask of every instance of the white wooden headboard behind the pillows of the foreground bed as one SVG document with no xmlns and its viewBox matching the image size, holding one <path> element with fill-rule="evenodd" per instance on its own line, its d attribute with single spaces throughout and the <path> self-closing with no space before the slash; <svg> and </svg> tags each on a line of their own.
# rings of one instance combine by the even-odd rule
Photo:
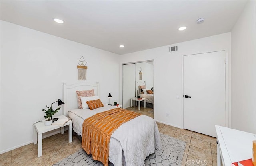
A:
<svg viewBox="0 0 256 166">
<path fill-rule="evenodd" d="M 68 111 L 71 109 L 77 109 L 77 90 L 94 90 L 94 95 L 100 95 L 100 83 L 99 82 L 79 82 L 73 84 L 63 83 L 63 115 L 68 115 Z"/>
</svg>

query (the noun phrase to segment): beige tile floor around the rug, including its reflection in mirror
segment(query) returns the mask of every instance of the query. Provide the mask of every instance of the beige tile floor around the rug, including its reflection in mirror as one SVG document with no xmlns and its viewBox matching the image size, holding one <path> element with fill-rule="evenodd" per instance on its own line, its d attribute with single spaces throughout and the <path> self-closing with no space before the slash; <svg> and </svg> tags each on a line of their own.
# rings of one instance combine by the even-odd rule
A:
<svg viewBox="0 0 256 166">
<path fill-rule="evenodd" d="M 153 109 L 142 107 L 140 111 L 135 111 L 150 117 L 154 116 Z M 216 138 L 158 122 L 157 125 L 161 133 L 186 141 L 187 145 L 182 160 L 182 166 L 217 165 Z M 31 143 L 1 154 L 0 165 L 52 166 L 52 164 L 77 152 L 81 148 L 81 141 L 75 136 L 73 136 L 73 142 L 68 143 L 68 131 L 65 131 L 63 135 L 59 133 L 43 139 L 43 151 L 41 157 L 37 157 L 37 145 Z"/>
</svg>

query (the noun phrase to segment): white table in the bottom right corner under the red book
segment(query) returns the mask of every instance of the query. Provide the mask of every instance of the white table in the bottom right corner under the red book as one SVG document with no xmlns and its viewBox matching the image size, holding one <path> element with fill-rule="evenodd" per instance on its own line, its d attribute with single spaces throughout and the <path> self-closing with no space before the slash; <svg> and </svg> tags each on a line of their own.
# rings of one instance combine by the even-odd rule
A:
<svg viewBox="0 0 256 166">
<path fill-rule="evenodd" d="M 232 163 L 252 158 L 252 140 L 256 135 L 215 125 L 217 133 L 217 165 L 231 166 Z"/>
</svg>

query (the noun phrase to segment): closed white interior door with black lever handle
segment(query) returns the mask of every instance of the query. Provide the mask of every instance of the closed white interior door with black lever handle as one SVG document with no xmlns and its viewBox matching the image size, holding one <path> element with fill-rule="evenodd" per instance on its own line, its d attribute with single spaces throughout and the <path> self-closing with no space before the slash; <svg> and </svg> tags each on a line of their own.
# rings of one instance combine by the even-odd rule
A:
<svg viewBox="0 0 256 166">
<path fill-rule="evenodd" d="M 184 129 L 216 137 L 225 111 L 225 51 L 184 56 Z"/>
</svg>

